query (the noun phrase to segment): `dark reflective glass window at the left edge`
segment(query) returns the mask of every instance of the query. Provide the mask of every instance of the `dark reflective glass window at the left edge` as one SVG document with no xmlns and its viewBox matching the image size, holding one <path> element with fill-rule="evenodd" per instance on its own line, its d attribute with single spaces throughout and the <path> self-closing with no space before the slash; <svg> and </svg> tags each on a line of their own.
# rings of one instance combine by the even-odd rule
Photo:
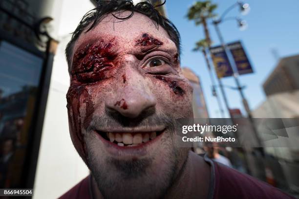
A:
<svg viewBox="0 0 299 199">
<path fill-rule="evenodd" d="M 43 59 L 0 42 L 0 187 L 21 183 Z"/>
</svg>

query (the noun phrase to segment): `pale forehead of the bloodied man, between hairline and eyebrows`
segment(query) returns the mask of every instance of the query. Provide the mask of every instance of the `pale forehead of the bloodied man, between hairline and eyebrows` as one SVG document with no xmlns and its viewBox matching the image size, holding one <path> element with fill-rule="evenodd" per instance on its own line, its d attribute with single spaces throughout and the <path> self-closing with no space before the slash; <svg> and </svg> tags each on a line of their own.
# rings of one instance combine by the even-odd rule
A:
<svg viewBox="0 0 299 199">
<path fill-rule="evenodd" d="M 129 11 L 125 11 L 117 17 L 123 18 L 130 13 Z M 97 39 L 110 40 L 114 38 L 120 46 L 133 46 L 134 41 L 140 39 L 144 33 L 172 47 L 175 46 L 164 28 L 161 26 L 157 28 L 156 23 L 145 15 L 134 13 L 128 20 L 118 20 L 111 14 L 108 14 L 95 28 L 80 35 L 74 45 L 73 54 L 87 43 L 94 42 Z"/>
</svg>

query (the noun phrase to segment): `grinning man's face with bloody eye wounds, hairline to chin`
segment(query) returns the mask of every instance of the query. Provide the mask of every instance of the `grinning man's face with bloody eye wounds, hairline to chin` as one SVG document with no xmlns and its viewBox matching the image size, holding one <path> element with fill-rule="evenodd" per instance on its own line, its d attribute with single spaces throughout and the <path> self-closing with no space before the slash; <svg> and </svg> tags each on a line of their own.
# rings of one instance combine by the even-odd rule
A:
<svg viewBox="0 0 299 199">
<path fill-rule="evenodd" d="M 176 146 L 174 122 L 192 118 L 192 87 L 177 53 L 139 13 L 108 15 L 75 43 L 70 135 L 104 196 L 161 197 L 183 168 L 188 148 Z"/>
</svg>

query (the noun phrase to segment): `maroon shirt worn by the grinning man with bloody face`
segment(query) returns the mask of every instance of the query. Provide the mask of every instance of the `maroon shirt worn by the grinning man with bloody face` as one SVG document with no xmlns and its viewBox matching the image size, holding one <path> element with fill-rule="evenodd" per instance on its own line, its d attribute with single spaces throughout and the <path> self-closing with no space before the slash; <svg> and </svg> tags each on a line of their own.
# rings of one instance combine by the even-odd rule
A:
<svg viewBox="0 0 299 199">
<path fill-rule="evenodd" d="M 295 199 L 249 175 L 207 157 L 205 160 L 212 167 L 208 199 Z M 92 199 L 90 180 L 87 176 L 59 199 Z"/>
</svg>

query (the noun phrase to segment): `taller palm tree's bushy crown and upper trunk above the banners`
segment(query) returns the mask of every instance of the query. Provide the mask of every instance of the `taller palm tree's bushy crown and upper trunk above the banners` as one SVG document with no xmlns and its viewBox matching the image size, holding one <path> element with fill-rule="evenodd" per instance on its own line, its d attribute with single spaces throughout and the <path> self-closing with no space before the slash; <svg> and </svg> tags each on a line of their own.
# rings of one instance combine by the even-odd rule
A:
<svg viewBox="0 0 299 199">
<path fill-rule="evenodd" d="M 203 25 L 206 41 L 208 42 L 208 47 L 211 47 L 211 38 L 207 20 L 216 16 L 216 14 L 213 13 L 216 8 L 217 5 L 213 4 L 210 0 L 196 1 L 189 8 L 187 13 L 188 20 L 194 20 L 195 25 Z"/>
</svg>

